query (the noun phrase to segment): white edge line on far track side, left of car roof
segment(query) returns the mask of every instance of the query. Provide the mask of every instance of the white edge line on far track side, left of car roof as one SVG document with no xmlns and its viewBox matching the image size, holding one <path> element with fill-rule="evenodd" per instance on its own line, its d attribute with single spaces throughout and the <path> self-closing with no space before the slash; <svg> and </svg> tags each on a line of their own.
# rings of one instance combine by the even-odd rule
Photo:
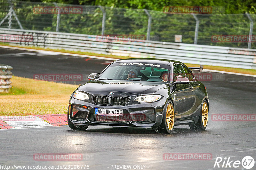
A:
<svg viewBox="0 0 256 170">
<path fill-rule="evenodd" d="M 26 50 L 26 51 L 35 51 L 35 52 L 46 52 L 46 51 L 47 51 L 47 50 L 35 50 L 35 49 L 20 48 L 20 47 L 11 47 L 11 46 L 0 46 L 0 48 L 9 48 L 9 49 L 15 49 L 15 50 Z M 113 58 L 98 57 L 98 56 L 91 56 L 91 55 L 72 54 L 72 53 L 61 53 L 61 52 L 53 52 L 53 51 L 47 51 L 47 52 L 52 52 L 52 53 L 55 53 L 56 55 L 71 55 L 71 56 L 87 57 L 87 58 L 101 59 L 101 60 L 113 60 L 113 61 L 118 60 L 118 59 L 113 59 Z"/>
</svg>

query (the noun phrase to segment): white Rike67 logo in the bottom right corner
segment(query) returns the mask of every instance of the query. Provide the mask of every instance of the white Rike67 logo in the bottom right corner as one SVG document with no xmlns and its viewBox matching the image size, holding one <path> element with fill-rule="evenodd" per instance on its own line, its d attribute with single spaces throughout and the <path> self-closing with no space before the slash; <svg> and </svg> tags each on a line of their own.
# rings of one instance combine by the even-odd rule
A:
<svg viewBox="0 0 256 170">
<path fill-rule="evenodd" d="M 223 162 L 222 162 L 223 161 Z M 214 163 L 215 167 L 222 168 L 238 168 L 239 166 L 243 166 L 245 169 L 251 169 L 254 166 L 254 159 L 251 156 L 245 156 L 242 161 L 240 160 L 230 160 L 230 157 L 225 157 L 222 159 L 221 157 L 217 157 Z"/>
</svg>

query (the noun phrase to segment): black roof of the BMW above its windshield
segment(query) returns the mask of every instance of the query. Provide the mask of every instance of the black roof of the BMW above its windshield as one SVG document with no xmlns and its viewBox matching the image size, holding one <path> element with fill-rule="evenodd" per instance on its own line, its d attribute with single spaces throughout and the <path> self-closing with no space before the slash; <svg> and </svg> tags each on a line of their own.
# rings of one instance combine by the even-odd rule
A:
<svg viewBox="0 0 256 170">
<path fill-rule="evenodd" d="M 167 60 L 167 59 L 152 59 L 152 58 L 132 58 L 132 59 L 120 59 L 116 60 L 115 62 L 154 62 L 156 64 L 173 64 L 174 62 L 179 62 L 180 61 L 175 61 L 175 60 Z"/>
</svg>

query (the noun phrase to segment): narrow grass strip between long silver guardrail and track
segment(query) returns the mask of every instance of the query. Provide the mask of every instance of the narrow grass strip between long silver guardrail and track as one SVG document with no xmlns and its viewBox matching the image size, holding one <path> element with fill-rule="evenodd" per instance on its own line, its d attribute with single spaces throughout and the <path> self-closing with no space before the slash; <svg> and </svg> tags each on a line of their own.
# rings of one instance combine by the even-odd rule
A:
<svg viewBox="0 0 256 170">
<path fill-rule="evenodd" d="M 12 45 L 9 45 L 8 43 L 2 43 L 2 42 L 0 42 L 0 45 L 2 45 L 2 46 L 12 46 Z M 40 48 L 40 47 L 35 47 L 35 46 L 12 46 L 12 47 L 22 47 L 22 48 L 28 48 L 28 49 L 46 50 L 46 51 L 54 51 L 54 52 L 61 52 L 61 53 L 91 55 L 91 56 L 107 57 L 107 58 L 114 58 L 114 59 L 132 58 L 132 57 L 124 57 L 124 56 L 116 56 L 116 55 L 88 53 L 88 52 L 81 52 L 81 51 L 68 51 L 68 50 L 64 50 L 64 49 L 55 50 L 55 49 Z M 186 65 L 188 67 L 198 67 L 199 66 L 198 64 L 189 64 L 189 63 L 186 63 Z M 233 72 L 233 73 L 243 73 L 243 74 L 253 74 L 253 75 L 256 75 L 256 70 L 244 69 L 244 68 L 232 68 L 232 67 L 220 67 L 220 66 L 204 65 L 204 69 L 228 71 L 228 72 Z"/>
</svg>

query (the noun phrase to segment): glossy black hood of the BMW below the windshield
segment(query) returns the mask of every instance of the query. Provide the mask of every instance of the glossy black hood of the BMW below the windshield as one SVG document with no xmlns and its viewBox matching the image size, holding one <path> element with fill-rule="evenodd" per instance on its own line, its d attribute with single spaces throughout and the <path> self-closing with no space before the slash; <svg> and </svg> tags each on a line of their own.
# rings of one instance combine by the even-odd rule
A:
<svg viewBox="0 0 256 170">
<path fill-rule="evenodd" d="M 84 92 L 124 92 L 133 94 L 153 94 L 155 91 L 167 87 L 169 84 L 150 81 L 88 81 L 78 90 Z"/>
</svg>

